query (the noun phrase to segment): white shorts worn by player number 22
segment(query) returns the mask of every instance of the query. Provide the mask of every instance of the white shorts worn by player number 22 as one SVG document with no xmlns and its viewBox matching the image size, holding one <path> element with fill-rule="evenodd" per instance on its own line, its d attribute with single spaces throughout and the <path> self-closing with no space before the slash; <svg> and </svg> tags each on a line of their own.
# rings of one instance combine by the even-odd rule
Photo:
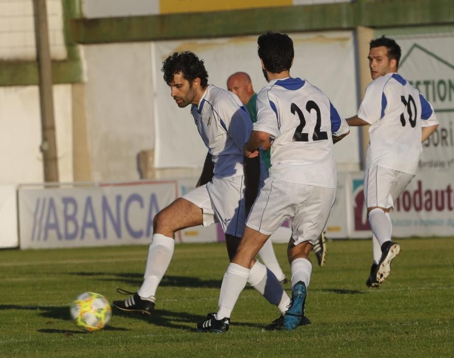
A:
<svg viewBox="0 0 454 358">
<path fill-rule="evenodd" d="M 272 235 L 282 223 L 292 218 L 294 244 L 314 244 L 325 228 L 336 199 L 336 189 L 288 183 L 273 176 L 267 178 L 246 225 L 265 235 Z"/>
</svg>

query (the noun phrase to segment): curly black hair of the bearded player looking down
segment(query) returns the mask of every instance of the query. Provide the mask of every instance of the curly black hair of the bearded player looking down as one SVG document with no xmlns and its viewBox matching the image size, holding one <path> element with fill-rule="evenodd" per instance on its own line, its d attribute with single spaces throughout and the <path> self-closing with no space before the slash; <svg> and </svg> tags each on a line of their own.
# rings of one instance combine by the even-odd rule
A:
<svg viewBox="0 0 454 358">
<path fill-rule="evenodd" d="M 200 86 L 208 85 L 208 73 L 203 65 L 203 60 L 200 60 L 197 55 L 190 51 L 174 52 L 163 62 L 164 81 L 167 84 L 173 81 L 173 75 L 181 73 L 183 78 L 192 82 L 196 78 L 200 78 Z"/>
</svg>

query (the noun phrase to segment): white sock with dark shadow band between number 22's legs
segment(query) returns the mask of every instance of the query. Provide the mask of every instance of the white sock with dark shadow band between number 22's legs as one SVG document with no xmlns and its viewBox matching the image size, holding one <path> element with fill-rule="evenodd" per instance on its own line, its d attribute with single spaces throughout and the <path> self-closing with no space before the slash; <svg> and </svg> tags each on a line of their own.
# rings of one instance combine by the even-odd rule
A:
<svg viewBox="0 0 454 358">
<path fill-rule="evenodd" d="M 278 306 L 281 313 L 287 310 L 290 298 L 277 277 L 263 263 L 256 261 L 249 272 L 247 283 L 253 286 L 269 303 Z"/>
</svg>

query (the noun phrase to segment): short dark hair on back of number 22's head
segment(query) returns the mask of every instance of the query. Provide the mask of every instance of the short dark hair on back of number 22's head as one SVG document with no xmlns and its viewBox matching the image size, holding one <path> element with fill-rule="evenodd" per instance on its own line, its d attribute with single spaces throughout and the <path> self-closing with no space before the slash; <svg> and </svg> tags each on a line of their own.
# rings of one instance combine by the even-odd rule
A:
<svg viewBox="0 0 454 358">
<path fill-rule="evenodd" d="M 294 57 L 293 41 L 287 34 L 266 32 L 257 39 L 259 57 L 268 72 L 290 70 Z"/>
</svg>

